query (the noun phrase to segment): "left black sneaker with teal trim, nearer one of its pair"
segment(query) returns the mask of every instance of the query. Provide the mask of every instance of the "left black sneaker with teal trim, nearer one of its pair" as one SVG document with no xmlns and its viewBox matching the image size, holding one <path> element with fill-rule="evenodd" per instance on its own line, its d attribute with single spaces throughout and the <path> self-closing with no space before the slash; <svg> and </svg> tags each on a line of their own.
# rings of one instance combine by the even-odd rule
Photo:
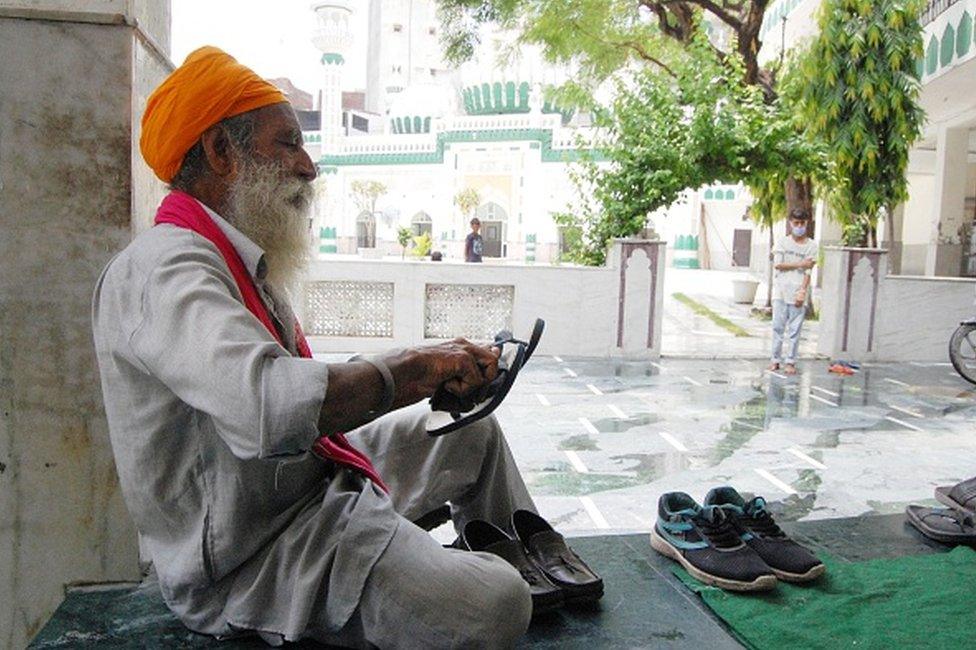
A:
<svg viewBox="0 0 976 650">
<path fill-rule="evenodd" d="M 772 570 L 742 542 L 724 511 L 703 508 L 684 492 L 661 495 L 651 546 L 709 585 L 732 591 L 776 586 Z"/>
</svg>

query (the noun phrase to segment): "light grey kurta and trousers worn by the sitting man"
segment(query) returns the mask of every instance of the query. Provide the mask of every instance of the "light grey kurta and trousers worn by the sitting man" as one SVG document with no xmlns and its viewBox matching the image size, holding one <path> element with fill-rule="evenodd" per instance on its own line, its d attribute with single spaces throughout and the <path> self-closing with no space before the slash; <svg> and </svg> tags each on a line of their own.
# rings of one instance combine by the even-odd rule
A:
<svg viewBox="0 0 976 650">
<path fill-rule="evenodd" d="M 137 237 L 94 300 L 106 413 L 123 495 L 163 596 L 190 628 L 351 646 L 506 647 L 528 588 L 497 556 L 443 549 L 410 523 L 450 501 L 455 525 L 534 510 L 494 418 L 425 433 L 416 405 L 349 433 L 390 486 L 304 450 L 328 385 L 295 358 L 294 314 L 261 250 L 212 211 L 280 325 L 242 304 L 223 258 L 175 226 Z"/>
</svg>

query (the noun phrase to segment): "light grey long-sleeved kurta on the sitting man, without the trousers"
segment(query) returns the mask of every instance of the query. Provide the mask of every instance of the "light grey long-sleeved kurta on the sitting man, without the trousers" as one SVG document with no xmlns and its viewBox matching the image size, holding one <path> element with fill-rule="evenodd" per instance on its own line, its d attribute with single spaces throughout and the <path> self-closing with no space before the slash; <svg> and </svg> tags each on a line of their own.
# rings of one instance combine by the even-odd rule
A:
<svg viewBox="0 0 976 650">
<path fill-rule="evenodd" d="M 210 214 L 267 298 L 261 250 Z M 216 247 L 171 225 L 103 272 L 95 345 L 123 495 L 188 627 L 335 630 L 397 519 L 378 488 L 307 453 L 327 366 L 291 356 L 242 302 Z"/>
</svg>

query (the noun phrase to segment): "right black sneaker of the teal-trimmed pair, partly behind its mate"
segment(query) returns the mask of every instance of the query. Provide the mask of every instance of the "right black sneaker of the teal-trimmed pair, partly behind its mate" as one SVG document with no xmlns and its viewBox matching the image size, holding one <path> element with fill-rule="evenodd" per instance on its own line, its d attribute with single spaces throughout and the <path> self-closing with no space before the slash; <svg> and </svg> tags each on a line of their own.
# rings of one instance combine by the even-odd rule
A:
<svg viewBox="0 0 976 650">
<path fill-rule="evenodd" d="M 826 570 L 823 562 L 784 533 L 766 510 L 766 500 L 746 502 L 735 488 L 713 488 L 705 505 L 721 508 L 732 520 L 742 541 L 759 554 L 776 577 L 787 582 L 816 580 Z"/>
</svg>

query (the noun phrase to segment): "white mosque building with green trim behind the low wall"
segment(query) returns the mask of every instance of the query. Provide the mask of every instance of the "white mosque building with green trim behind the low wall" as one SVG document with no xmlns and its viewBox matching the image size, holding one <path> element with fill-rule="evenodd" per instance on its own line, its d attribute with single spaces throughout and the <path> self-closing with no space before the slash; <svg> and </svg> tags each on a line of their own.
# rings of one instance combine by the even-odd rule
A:
<svg viewBox="0 0 976 650">
<path fill-rule="evenodd" d="M 441 53 L 434 0 L 369 0 L 365 97 L 343 92 L 353 12 L 366 4 L 313 5 L 321 101 L 300 117 L 322 178 L 313 226 L 320 253 L 399 256 L 397 229 L 406 226 L 429 233 L 445 258 L 462 258 L 470 229 L 454 199 L 470 188 L 480 198 L 474 214 L 489 261 L 558 261 L 566 243 L 552 215 L 573 209 L 571 171 L 592 152 L 586 143 L 595 135 L 588 115 L 544 96 L 569 71 L 530 47 L 505 58 L 511 38 L 497 30 L 484 32 L 470 63 L 452 68 Z M 357 201 L 357 181 L 378 182 L 385 192 Z M 676 265 L 696 266 L 701 244 L 713 268 L 748 267 L 764 256 L 751 250 L 747 206 L 741 187 L 702 188 L 653 222 L 677 249 Z M 708 233 L 704 242 L 700 232 Z"/>
</svg>

